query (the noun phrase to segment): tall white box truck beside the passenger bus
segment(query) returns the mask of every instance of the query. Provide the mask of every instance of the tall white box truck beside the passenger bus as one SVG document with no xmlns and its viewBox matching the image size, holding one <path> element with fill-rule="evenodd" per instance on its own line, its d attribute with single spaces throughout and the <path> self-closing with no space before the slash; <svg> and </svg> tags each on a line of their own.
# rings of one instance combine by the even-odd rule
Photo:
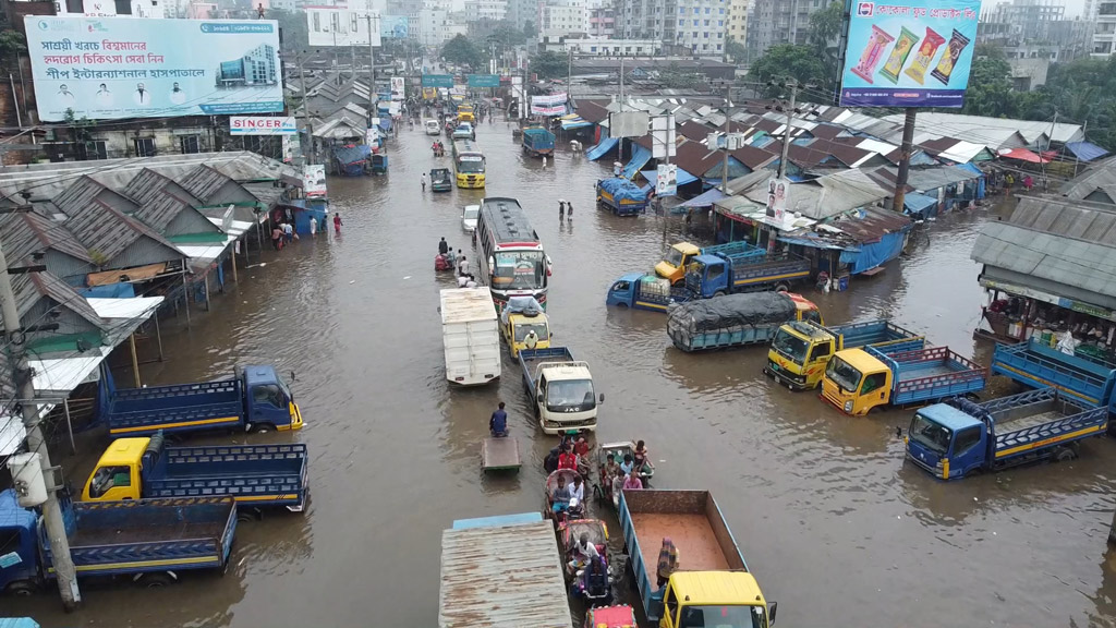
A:
<svg viewBox="0 0 1116 628">
<path fill-rule="evenodd" d="M 460 386 L 500 377 L 500 329 L 487 286 L 442 291 L 445 379 Z"/>
</svg>

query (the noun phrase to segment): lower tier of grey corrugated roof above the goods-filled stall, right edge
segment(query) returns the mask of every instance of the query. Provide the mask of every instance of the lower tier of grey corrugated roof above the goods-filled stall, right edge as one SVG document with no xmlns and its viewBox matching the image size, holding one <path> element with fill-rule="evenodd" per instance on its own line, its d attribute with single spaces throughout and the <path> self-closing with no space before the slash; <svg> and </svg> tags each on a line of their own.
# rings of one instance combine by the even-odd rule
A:
<svg viewBox="0 0 1116 628">
<path fill-rule="evenodd" d="M 1116 298 L 1116 248 L 1042 234 L 1010 222 L 985 222 L 972 258 L 989 267 Z M 1069 296 L 1061 294 L 1059 296 Z M 1097 305 L 1105 299 L 1091 299 Z"/>
</svg>

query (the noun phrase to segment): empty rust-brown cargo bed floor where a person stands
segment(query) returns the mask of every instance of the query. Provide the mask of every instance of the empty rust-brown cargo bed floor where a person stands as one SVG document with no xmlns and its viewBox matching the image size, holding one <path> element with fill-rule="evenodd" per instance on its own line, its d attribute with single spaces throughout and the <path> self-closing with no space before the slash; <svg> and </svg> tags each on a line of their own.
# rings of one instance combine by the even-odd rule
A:
<svg viewBox="0 0 1116 628">
<path fill-rule="evenodd" d="M 704 514 L 632 513 L 632 526 L 636 536 L 647 540 L 639 546 L 644 564 L 654 565 L 658 562 L 661 545 L 652 541 L 670 536 L 679 549 L 679 560 L 686 571 L 729 569 L 729 561 Z"/>
</svg>

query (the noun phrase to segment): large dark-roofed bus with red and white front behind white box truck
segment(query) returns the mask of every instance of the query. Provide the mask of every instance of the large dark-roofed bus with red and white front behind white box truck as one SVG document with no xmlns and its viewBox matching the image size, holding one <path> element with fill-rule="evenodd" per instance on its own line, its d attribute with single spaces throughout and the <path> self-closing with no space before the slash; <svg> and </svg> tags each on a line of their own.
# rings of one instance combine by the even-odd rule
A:
<svg viewBox="0 0 1116 628">
<path fill-rule="evenodd" d="M 533 296 L 546 308 L 550 259 L 519 201 L 481 201 L 477 241 L 480 279 L 491 288 L 498 311 L 502 312 L 512 296 Z"/>
</svg>

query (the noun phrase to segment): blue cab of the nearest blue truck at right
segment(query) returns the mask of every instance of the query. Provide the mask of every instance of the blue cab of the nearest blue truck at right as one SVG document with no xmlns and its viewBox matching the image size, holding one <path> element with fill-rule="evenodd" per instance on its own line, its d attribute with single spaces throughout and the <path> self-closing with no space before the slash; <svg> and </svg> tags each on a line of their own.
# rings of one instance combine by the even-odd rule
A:
<svg viewBox="0 0 1116 628">
<path fill-rule="evenodd" d="M 953 406 L 934 403 L 911 419 L 906 450 L 911 460 L 935 477 L 964 477 L 985 465 L 988 428 Z"/>
</svg>

